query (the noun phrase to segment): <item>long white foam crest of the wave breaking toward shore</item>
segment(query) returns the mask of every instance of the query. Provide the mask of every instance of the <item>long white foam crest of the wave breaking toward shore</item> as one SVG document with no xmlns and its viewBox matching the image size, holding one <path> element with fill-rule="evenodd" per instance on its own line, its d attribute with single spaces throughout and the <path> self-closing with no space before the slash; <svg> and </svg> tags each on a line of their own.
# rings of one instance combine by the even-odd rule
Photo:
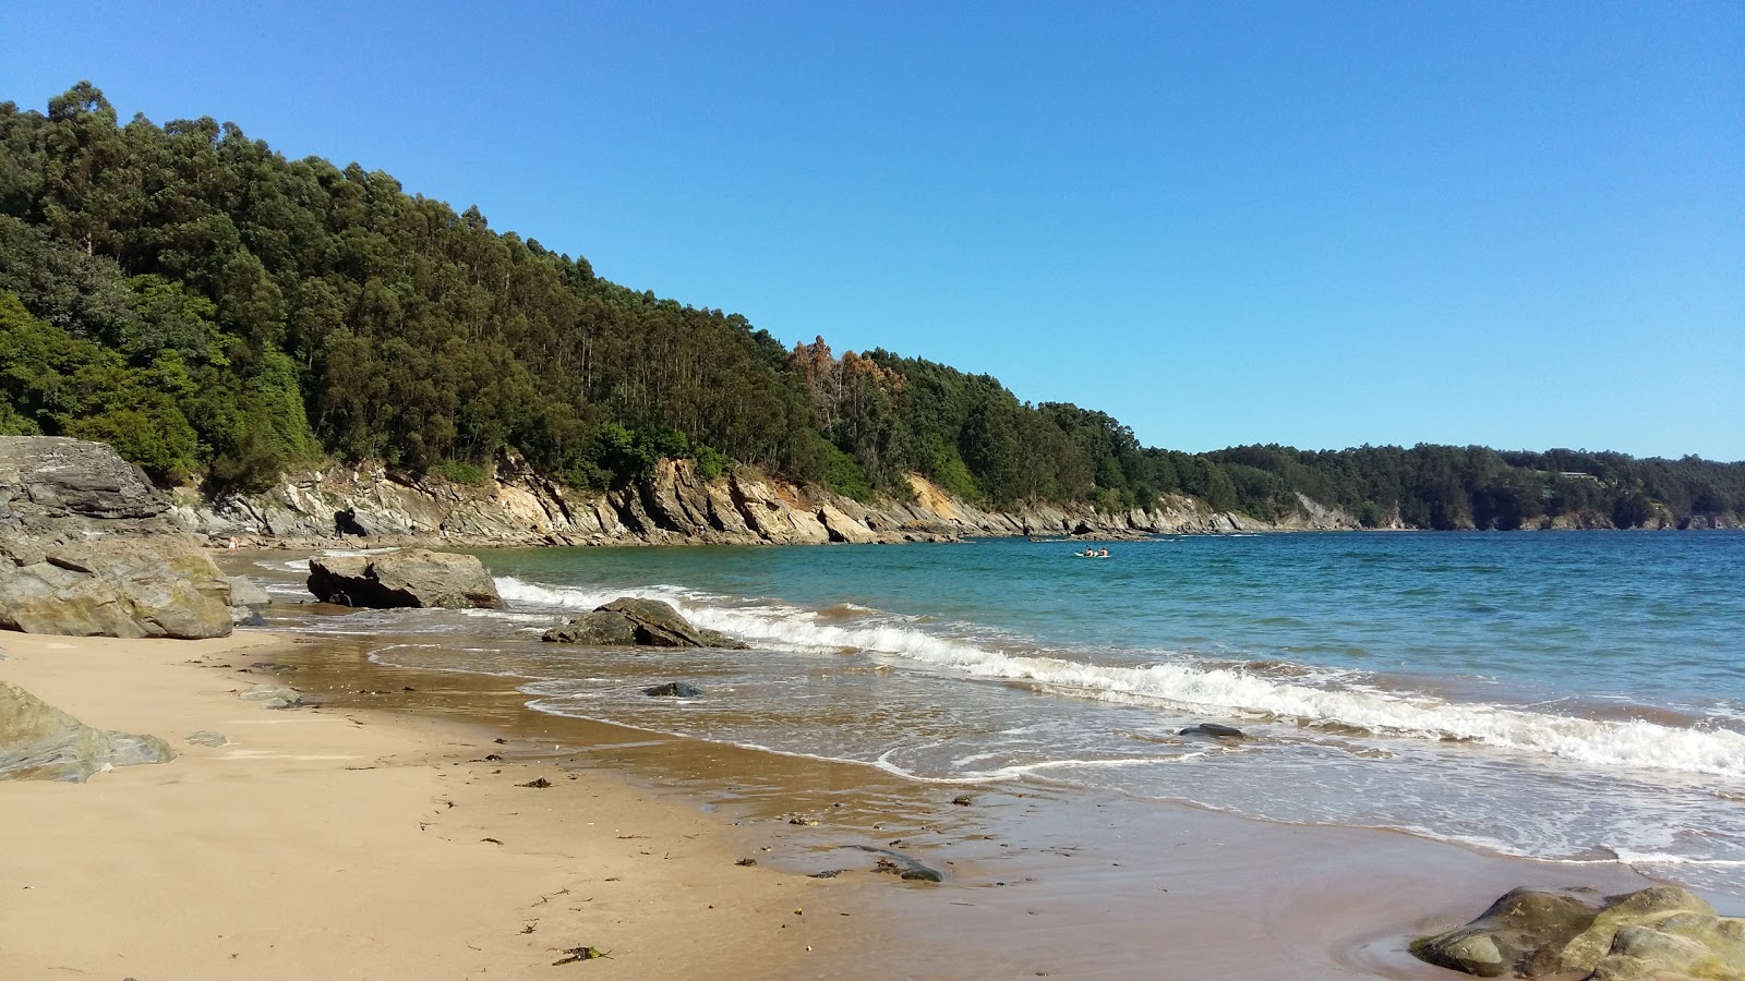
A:
<svg viewBox="0 0 1745 981">
<path fill-rule="evenodd" d="M 553 607 L 592 609 L 623 590 L 541 587 L 497 580 L 506 599 Z M 639 590 L 647 593 L 651 590 Z M 1591 766 L 1672 770 L 1745 779 L 1745 735 L 1687 730 L 1646 721 L 1595 721 L 1448 702 L 1433 695 L 1379 691 L 1351 683 L 1316 686 L 1239 667 L 1206 667 L 1181 658 L 1152 665 L 1098 665 L 1044 653 L 1012 653 L 921 630 L 913 621 L 869 618 L 822 623 L 792 606 L 722 606 L 677 587 L 653 590 L 703 627 L 754 642 L 792 649 L 857 648 L 951 669 L 975 679 L 1024 681 L 1105 702 L 1152 702 L 1218 716 L 1284 716 L 1340 723 L 1424 740 L 1461 740 L 1548 754 Z"/>
</svg>

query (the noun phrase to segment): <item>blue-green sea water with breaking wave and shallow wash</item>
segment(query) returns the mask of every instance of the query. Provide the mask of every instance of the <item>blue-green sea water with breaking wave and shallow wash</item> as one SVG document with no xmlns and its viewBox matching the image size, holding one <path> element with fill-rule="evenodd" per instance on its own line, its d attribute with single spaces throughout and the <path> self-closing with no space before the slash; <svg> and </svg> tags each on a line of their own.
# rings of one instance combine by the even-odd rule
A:
<svg viewBox="0 0 1745 981">
<path fill-rule="evenodd" d="M 508 611 L 307 623 L 529 703 L 914 780 L 1623 862 L 1745 897 L 1745 534 L 1263 534 L 480 553 Z M 270 564 L 270 562 L 269 562 Z M 619 595 L 750 651 L 541 644 Z M 642 688 L 691 681 L 695 700 Z M 1181 730 L 1235 726 L 1244 738 Z"/>
</svg>

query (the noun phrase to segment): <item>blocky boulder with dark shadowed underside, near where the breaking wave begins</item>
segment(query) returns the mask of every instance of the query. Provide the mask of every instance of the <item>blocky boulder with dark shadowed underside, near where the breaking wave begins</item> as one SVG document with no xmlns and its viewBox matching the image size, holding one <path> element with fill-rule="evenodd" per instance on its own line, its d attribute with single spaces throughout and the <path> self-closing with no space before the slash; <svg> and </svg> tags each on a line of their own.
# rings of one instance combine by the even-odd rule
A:
<svg viewBox="0 0 1745 981">
<path fill-rule="evenodd" d="M 384 555 L 318 555 L 309 560 L 309 592 L 323 602 L 503 609 L 497 583 L 476 555 L 407 548 Z"/>
</svg>

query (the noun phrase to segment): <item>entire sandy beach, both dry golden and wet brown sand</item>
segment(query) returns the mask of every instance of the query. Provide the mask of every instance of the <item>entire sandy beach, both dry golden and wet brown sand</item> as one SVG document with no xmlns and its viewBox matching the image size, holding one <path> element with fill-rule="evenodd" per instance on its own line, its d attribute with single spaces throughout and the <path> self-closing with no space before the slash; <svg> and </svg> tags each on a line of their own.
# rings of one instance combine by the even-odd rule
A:
<svg viewBox="0 0 1745 981">
<path fill-rule="evenodd" d="M 0 679 L 180 752 L 0 785 L 17 978 L 1434 979 L 1410 934 L 1515 885 L 1644 882 L 558 719 L 328 639 L 0 641 Z M 272 677 L 321 705 L 237 698 Z M 876 875 L 867 848 L 946 882 Z M 553 965 L 578 946 L 611 957 Z"/>
</svg>

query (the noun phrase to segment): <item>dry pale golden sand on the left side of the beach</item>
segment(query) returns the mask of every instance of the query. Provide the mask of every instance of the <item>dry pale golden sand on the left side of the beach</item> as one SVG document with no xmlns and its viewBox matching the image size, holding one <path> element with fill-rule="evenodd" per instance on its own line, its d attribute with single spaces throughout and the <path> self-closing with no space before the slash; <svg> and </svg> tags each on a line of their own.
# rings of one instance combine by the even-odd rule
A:
<svg viewBox="0 0 1745 981">
<path fill-rule="evenodd" d="M 0 634 L 0 677 L 180 754 L 0 784 L 0 978 L 770 978 L 850 957 L 860 890 L 736 866 L 696 806 L 480 761 L 490 735 L 452 723 L 239 700 L 262 677 L 236 669 L 274 642 Z M 611 957 L 553 967 L 574 946 Z"/>
</svg>

